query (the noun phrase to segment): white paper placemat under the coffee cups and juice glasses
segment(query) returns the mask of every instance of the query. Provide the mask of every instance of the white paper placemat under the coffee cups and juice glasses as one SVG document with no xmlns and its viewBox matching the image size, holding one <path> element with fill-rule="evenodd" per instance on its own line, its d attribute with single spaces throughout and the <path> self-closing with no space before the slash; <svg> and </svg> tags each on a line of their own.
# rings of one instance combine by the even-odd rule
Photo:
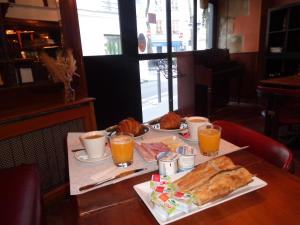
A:
<svg viewBox="0 0 300 225">
<path fill-rule="evenodd" d="M 157 162 L 147 163 L 144 159 L 139 155 L 138 151 L 134 152 L 134 160 L 133 164 L 128 168 L 118 168 L 113 164 L 112 158 L 109 157 L 105 160 L 93 163 L 81 162 L 74 157 L 74 153 L 72 152 L 73 149 L 80 149 L 83 148 L 81 142 L 79 141 L 79 136 L 83 133 L 68 133 L 67 137 L 67 146 L 68 146 L 68 162 L 69 162 L 69 178 L 70 178 L 70 194 L 71 195 L 78 195 L 93 189 L 100 188 L 102 186 L 106 186 L 112 183 L 120 182 L 122 180 L 141 175 L 143 173 L 148 173 L 151 171 L 155 171 L 158 169 Z M 150 129 L 150 132 L 147 133 L 145 136 L 140 138 L 139 141 L 147 140 L 147 139 L 154 139 L 155 137 L 163 137 L 163 136 L 173 136 L 177 135 L 176 133 L 171 132 L 159 132 L 153 131 Z M 186 144 L 193 146 L 197 149 L 198 154 L 196 155 L 196 165 L 203 163 L 211 157 L 203 156 L 200 154 L 199 147 L 197 143 L 191 143 L 188 141 L 184 141 Z M 240 150 L 241 148 L 231 144 L 223 139 L 221 139 L 220 143 L 220 151 L 218 156 L 225 155 L 233 151 Z M 139 168 L 147 168 L 147 170 L 131 174 L 129 176 L 107 182 L 103 185 L 99 185 L 97 187 L 91 188 L 86 191 L 79 191 L 79 188 L 85 186 L 87 184 L 91 184 L 97 181 L 104 180 L 105 178 L 111 177 L 113 175 L 117 175 L 120 172 L 126 170 L 133 170 Z"/>
</svg>

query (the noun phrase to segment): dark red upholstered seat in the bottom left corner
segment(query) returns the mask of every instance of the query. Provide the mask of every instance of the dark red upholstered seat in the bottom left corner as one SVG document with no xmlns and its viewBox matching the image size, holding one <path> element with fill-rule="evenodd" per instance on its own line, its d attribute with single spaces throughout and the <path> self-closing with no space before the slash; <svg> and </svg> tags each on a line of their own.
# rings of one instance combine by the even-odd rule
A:
<svg viewBox="0 0 300 225">
<path fill-rule="evenodd" d="M 40 225 L 40 180 L 34 165 L 0 170 L 0 224 Z"/>
</svg>

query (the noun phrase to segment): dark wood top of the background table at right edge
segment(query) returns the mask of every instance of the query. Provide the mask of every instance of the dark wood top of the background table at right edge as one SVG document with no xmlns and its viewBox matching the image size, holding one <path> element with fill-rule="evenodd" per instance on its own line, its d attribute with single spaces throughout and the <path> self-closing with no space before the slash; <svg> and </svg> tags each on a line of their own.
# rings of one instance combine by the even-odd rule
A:
<svg viewBox="0 0 300 225">
<path fill-rule="evenodd" d="M 300 74 L 287 77 L 278 77 L 268 80 L 261 80 L 260 84 L 282 88 L 300 88 Z"/>
</svg>

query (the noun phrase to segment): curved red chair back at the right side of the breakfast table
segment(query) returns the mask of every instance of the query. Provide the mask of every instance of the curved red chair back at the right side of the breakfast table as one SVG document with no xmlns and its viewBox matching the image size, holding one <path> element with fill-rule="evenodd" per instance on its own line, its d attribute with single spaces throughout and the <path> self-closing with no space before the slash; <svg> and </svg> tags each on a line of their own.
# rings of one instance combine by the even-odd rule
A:
<svg viewBox="0 0 300 225">
<path fill-rule="evenodd" d="M 218 120 L 214 124 L 222 127 L 222 138 L 238 146 L 249 145 L 248 150 L 269 163 L 293 172 L 293 154 L 283 144 L 236 123 Z"/>
</svg>

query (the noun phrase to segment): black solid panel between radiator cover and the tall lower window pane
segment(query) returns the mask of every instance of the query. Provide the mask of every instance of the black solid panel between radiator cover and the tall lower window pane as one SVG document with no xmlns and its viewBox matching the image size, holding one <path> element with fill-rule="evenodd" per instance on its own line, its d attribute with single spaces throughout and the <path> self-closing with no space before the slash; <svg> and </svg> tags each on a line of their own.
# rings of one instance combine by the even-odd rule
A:
<svg viewBox="0 0 300 225">
<path fill-rule="evenodd" d="M 142 121 L 140 80 L 136 60 L 125 55 L 84 57 L 88 94 L 96 98 L 98 129 L 126 117 Z"/>
</svg>

